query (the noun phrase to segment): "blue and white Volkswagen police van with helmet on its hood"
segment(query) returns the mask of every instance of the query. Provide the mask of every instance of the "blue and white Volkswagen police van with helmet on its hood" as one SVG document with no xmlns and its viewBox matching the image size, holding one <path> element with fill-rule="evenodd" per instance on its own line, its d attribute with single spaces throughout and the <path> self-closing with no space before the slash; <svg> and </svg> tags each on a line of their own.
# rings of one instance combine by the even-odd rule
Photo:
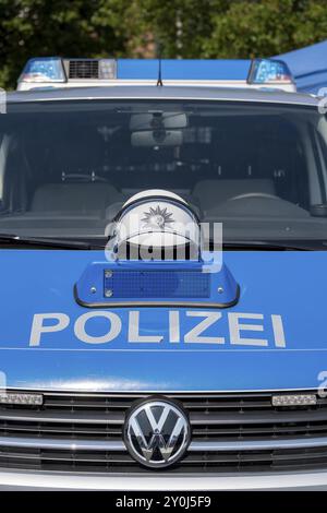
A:
<svg viewBox="0 0 327 513">
<path fill-rule="evenodd" d="M 0 206 L 2 488 L 327 489 L 327 119 L 287 64 L 33 59 Z"/>
</svg>

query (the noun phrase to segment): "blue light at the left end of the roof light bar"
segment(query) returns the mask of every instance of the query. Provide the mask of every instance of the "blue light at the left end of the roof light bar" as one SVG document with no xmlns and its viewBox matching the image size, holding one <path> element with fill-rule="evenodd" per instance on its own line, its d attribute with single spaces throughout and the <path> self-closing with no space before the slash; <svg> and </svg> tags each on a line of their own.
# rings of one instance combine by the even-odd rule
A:
<svg viewBox="0 0 327 513">
<path fill-rule="evenodd" d="M 59 57 L 37 57 L 29 59 L 20 80 L 24 82 L 65 82 L 62 60 Z"/>
</svg>

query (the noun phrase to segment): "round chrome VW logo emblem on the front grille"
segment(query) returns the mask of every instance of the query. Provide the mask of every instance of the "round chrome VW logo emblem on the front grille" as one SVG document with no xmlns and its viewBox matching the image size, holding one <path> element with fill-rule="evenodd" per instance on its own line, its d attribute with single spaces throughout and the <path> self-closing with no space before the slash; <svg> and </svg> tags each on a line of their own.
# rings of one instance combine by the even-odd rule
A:
<svg viewBox="0 0 327 513">
<path fill-rule="evenodd" d="M 169 467 L 183 456 L 190 441 L 189 418 L 174 403 L 149 399 L 132 408 L 126 417 L 125 445 L 146 467 Z"/>
</svg>

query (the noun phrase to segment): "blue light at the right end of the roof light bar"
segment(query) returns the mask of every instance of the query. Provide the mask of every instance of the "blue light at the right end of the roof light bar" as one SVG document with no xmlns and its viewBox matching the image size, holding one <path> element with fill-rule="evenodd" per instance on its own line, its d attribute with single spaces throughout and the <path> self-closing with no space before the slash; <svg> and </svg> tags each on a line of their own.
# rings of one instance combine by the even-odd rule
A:
<svg viewBox="0 0 327 513">
<path fill-rule="evenodd" d="M 278 86 L 293 84 L 293 77 L 289 67 L 281 60 L 254 59 L 250 68 L 247 83 Z"/>
</svg>

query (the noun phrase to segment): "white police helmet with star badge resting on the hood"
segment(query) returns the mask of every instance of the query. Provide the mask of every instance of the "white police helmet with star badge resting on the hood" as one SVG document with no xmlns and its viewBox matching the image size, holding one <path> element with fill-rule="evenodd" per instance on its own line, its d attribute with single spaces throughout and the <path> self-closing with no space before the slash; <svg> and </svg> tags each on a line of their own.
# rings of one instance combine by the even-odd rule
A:
<svg viewBox="0 0 327 513">
<path fill-rule="evenodd" d="M 144 191 L 122 206 L 110 246 L 120 260 L 198 260 L 198 219 L 178 194 Z"/>
</svg>

